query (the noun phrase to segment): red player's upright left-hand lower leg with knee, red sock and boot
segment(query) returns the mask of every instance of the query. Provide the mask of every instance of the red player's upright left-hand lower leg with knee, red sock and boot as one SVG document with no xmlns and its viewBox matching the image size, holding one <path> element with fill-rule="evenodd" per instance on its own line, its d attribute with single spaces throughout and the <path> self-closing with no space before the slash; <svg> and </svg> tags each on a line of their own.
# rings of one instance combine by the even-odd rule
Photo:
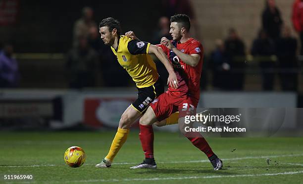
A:
<svg viewBox="0 0 303 184">
<path fill-rule="evenodd" d="M 157 119 L 152 110 L 152 107 L 149 107 L 145 112 L 145 114 L 139 120 L 140 122 L 139 138 L 141 140 L 142 148 L 145 154 L 145 160 L 141 164 L 138 164 L 137 166 L 130 167 L 130 169 L 157 168 L 157 165 L 155 164 L 153 159 L 153 129 L 152 129 L 152 124 L 155 123 L 156 121 Z"/>
</svg>

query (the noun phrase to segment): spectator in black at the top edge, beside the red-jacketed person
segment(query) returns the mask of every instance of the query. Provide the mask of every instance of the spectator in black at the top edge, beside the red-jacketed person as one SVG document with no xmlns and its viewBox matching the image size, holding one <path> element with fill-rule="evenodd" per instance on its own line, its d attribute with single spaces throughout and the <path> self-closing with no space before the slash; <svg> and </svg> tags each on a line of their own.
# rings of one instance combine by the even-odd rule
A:
<svg viewBox="0 0 303 184">
<path fill-rule="evenodd" d="M 265 0 L 265 9 L 262 13 L 262 26 L 267 36 L 273 41 L 279 39 L 282 29 L 282 18 L 275 0 Z"/>
</svg>

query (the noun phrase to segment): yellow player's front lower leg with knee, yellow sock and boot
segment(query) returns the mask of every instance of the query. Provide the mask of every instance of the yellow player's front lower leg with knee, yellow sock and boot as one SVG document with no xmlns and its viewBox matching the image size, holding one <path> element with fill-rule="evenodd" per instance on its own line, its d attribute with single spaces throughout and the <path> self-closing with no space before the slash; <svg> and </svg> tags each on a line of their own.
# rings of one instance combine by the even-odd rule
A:
<svg viewBox="0 0 303 184">
<path fill-rule="evenodd" d="M 124 144 L 129 133 L 129 127 L 140 118 L 142 114 L 137 111 L 132 105 L 130 105 L 122 114 L 119 121 L 119 127 L 115 137 L 112 140 L 110 149 L 106 157 L 97 164 L 98 168 L 107 168 L 110 167 L 114 157 L 117 155 L 118 151 Z"/>
</svg>

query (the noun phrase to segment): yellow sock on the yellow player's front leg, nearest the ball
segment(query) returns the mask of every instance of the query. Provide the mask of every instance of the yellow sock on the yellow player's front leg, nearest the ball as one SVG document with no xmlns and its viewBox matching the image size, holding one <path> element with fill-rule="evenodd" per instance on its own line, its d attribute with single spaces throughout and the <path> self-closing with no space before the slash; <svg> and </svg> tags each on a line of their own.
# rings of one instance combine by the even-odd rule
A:
<svg viewBox="0 0 303 184">
<path fill-rule="evenodd" d="M 107 160 L 109 160 L 110 162 L 113 161 L 113 159 L 117 155 L 118 151 L 120 150 L 120 148 L 126 141 L 128 133 L 129 133 L 129 130 L 124 130 L 124 129 L 118 128 L 115 138 L 112 140 L 108 154 L 105 157 Z"/>
</svg>

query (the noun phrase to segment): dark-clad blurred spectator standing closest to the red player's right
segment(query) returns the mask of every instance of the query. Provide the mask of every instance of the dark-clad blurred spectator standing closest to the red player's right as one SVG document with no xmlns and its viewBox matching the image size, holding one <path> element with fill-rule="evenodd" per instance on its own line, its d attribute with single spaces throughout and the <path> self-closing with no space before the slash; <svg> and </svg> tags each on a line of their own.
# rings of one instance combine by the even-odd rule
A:
<svg viewBox="0 0 303 184">
<path fill-rule="evenodd" d="M 216 48 L 210 54 L 210 66 L 212 69 L 212 86 L 215 89 L 228 89 L 231 81 L 228 80 L 230 75 L 230 66 L 226 59 L 223 41 L 216 40 Z"/>
</svg>

